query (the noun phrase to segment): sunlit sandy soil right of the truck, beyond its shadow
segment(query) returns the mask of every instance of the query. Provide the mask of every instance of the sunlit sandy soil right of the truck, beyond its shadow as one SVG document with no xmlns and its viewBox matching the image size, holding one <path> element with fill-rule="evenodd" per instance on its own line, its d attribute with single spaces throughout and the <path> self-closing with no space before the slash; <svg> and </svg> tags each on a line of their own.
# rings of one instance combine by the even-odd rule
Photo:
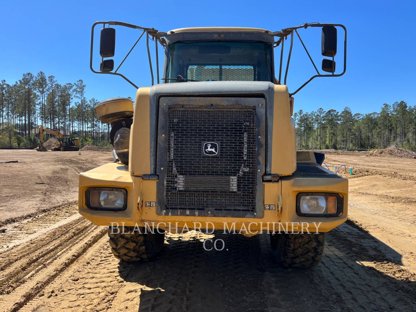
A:
<svg viewBox="0 0 416 312">
<path fill-rule="evenodd" d="M 396 251 L 396 261 L 416 272 L 416 159 L 326 154 L 331 170 L 349 178 L 349 218 Z M 350 176 L 348 168 L 353 167 Z"/>
</svg>

